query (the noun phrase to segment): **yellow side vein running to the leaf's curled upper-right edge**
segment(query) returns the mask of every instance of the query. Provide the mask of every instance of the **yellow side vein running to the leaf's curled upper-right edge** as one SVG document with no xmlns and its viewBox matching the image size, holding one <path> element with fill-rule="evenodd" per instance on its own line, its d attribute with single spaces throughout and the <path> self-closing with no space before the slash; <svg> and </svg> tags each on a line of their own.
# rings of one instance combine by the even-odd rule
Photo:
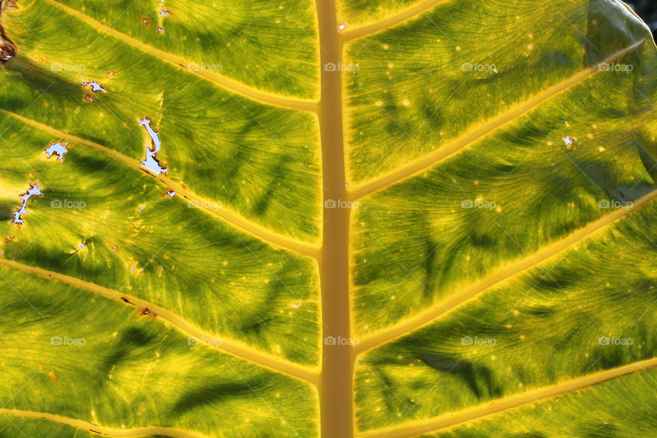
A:
<svg viewBox="0 0 657 438">
<path fill-rule="evenodd" d="M 528 99 L 527 101 L 513 105 L 513 107 L 511 107 L 511 109 L 509 109 L 508 111 L 500 114 L 495 118 L 489 119 L 484 123 L 480 123 L 476 125 L 474 128 L 469 129 L 461 136 L 452 140 L 452 142 L 449 142 L 445 146 L 441 146 L 439 149 L 436 149 L 435 151 L 429 153 L 428 155 L 424 155 L 424 157 L 415 159 L 409 164 L 406 164 L 396 170 L 393 170 L 383 175 L 382 177 L 378 177 L 377 179 L 374 179 L 368 183 L 360 185 L 359 187 L 353 189 L 350 192 L 350 198 L 356 200 L 358 198 L 362 198 L 363 196 L 367 196 L 372 192 L 376 192 L 377 190 L 387 188 L 390 185 L 394 185 L 402 181 L 402 179 L 411 177 L 419 172 L 422 172 L 423 170 L 426 170 L 427 168 L 430 168 L 431 166 L 433 166 L 434 164 L 436 164 L 437 162 L 443 159 L 446 159 L 448 157 L 451 157 L 452 155 L 455 155 L 456 153 L 459 153 L 466 146 L 469 146 L 476 140 L 480 140 L 480 138 L 487 136 L 489 133 L 495 131 L 495 129 L 498 129 L 502 127 L 502 125 L 505 125 L 506 123 L 510 122 L 511 120 L 514 120 L 515 118 L 526 114 L 527 112 L 533 110 L 535 107 L 547 101 L 548 99 L 552 98 L 556 94 L 567 90 L 571 86 L 576 85 L 577 83 L 583 81 L 584 79 L 587 79 L 587 77 L 595 74 L 598 70 L 600 70 L 600 66 L 604 64 L 610 64 L 615 60 L 623 57 L 627 53 L 630 53 L 631 51 L 636 49 L 636 47 L 639 47 L 639 45 L 641 45 L 644 40 L 645 38 L 639 42 L 636 42 L 635 44 L 632 44 L 630 47 L 627 47 L 626 49 L 617 51 L 616 53 L 608 57 L 606 60 L 600 62 L 600 64 L 591 66 L 590 68 L 587 68 L 586 70 L 582 70 L 580 71 L 580 73 L 577 73 L 576 75 L 571 76 L 568 79 L 565 79 L 564 81 L 556 83 L 556 85 L 551 86 L 547 90 L 544 90 L 543 92 L 534 95 L 531 99 Z"/>
</svg>

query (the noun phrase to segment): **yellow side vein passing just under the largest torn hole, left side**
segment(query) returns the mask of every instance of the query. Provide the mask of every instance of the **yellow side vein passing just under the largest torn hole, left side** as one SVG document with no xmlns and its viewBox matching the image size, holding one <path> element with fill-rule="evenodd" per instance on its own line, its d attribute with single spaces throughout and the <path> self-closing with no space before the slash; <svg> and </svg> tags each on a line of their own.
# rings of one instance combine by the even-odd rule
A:
<svg viewBox="0 0 657 438">
<path fill-rule="evenodd" d="M 70 142 L 83 144 L 84 146 L 88 146 L 92 149 L 96 149 L 96 151 L 100 151 L 102 153 L 105 153 L 106 155 L 110 155 L 110 157 L 113 157 L 132 168 L 143 170 L 149 176 L 157 179 L 163 185 L 166 185 L 167 188 L 174 190 L 177 194 L 183 196 L 183 198 L 188 199 L 188 201 L 194 203 L 194 205 L 200 206 L 201 208 L 205 209 L 209 213 L 214 214 L 215 216 L 218 216 L 222 220 L 233 225 L 233 227 L 242 229 L 242 231 L 247 231 L 251 235 L 257 237 L 259 240 L 263 240 L 264 242 L 272 246 L 278 248 L 284 248 L 286 250 L 291 250 L 294 253 L 305 255 L 308 257 L 315 257 L 315 258 L 318 257 L 319 254 L 318 247 L 308 244 L 307 242 L 295 240 L 292 237 L 287 237 L 285 235 L 275 233 L 274 231 L 271 231 L 270 229 L 267 229 L 266 227 L 263 227 L 260 224 L 252 222 L 244 218 L 244 216 L 241 216 L 240 214 L 237 214 L 234 211 L 227 209 L 226 207 L 222 207 L 220 204 L 216 202 L 202 198 L 201 196 L 198 196 L 188 188 L 183 187 L 181 183 L 177 183 L 176 181 L 173 181 L 172 179 L 166 177 L 165 175 L 157 175 L 157 173 L 152 172 L 148 168 L 142 166 L 138 160 L 132 159 L 127 155 L 123 155 L 122 153 L 115 151 L 114 149 L 110 149 L 107 146 L 94 143 L 90 140 L 85 140 L 84 138 L 73 136 L 72 134 L 65 133 L 64 131 L 60 131 L 59 129 L 55 129 L 48 125 L 44 125 L 43 123 L 37 122 L 36 120 L 32 120 L 31 118 L 20 116 L 18 114 L 15 114 L 7 110 L 0 109 L 0 113 L 7 114 L 8 116 L 17 118 L 18 120 L 21 120 L 21 122 L 27 125 L 36 127 L 38 129 L 41 129 L 42 131 L 46 131 L 48 133 L 53 134 L 53 136 L 64 138 L 65 140 L 69 140 Z"/>
</svg>

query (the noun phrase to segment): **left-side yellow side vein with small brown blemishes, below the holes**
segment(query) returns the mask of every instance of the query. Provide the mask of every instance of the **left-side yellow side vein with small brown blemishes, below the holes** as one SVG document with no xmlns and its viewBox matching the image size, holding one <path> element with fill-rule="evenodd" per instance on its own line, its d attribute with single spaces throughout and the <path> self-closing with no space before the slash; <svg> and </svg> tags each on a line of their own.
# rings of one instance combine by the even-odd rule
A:
<svg viewBox="0 0 657 438">
<path fill-rule="evenodd" d="M 49 280 L 60 281 L 71 286 L 79 287 L 79 289 L 84 289 L 88 292 L 93 292 L 94 294 L 105 296 L 117 302 L 122 302 L 125 305 L 133 305 L 140 309 L 149 309 L 149 311 L 157 315 L 157 319 L 169 322 L 177 329 L 179 329 L 179 331 L 187 335 L 191 335 L 197 339 L 216 339 L 216 335 L 208 333 L 203 329 L 199 329 L 198 327 L 185 321 L 179 315 L 164 309 L 164 307 L 159 307 L 152 302 L 141 300 L 135 296 L 122 294 L 114 289 L 108 289 L 107 287 L 96 285 L 94 283 L 88 283 L 87 281 L 76 279 L 72 276 L 37 268 L 36 266 L 25 265 L 13 260 L 0 258 L 0 266 L 8 266 L 9 268 L 28 272 L 29 274 L 43 276 Z M 283 374 L 287 374 L 288 376 L 296 377 L 302 381 L 317 385 L 318 374 L 315 372 L 315 370 L 303 367 L 302 365 L 297 365 L 296 363 L 284 361 L 279 357 L 274 357 L 264 352 L 253 350 L 252 348 L 249 348 L 247 345 L 240 342 L 222 338 L 221 342 L 208 342 L 207 345 L 213 348 L 217 348 L 218 350 L 229 352 L 232 355 L 240 357 L 241 359 L 246 359 L 247 361 L 251 361 L 263 367 L 270 368 L 276 372 L 281 372 Z"/>
</svg>

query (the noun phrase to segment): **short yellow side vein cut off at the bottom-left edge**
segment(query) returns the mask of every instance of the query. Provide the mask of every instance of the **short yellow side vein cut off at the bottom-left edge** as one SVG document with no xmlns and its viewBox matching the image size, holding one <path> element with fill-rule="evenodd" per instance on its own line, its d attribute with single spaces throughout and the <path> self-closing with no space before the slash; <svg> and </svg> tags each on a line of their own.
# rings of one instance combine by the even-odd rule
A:
<svg viewBox="0 0 657 438">
<path fill-rule="evenodd" d="M 192 432 L 190 430 L 182 430 L 178 428 L 169 427 L 156 427 L 145 426 L 136 427 L 131 429 L 114 428 L 107 426 L 99 426 L 98 424 L 77 420 L 70 417 L 62 417 L 62 415 L 55 415 L 46 412 L 34 411 L 20 411 L 18 409 L 0 409 L 2 415 L 13 415 L 14 417 L 34 418 L 35 420 L 48 420 L 50 422 L 66 424 L 66 426 L 75 427 L 81 430 L 88 430 L 89 432 L 96 433 L 97 435 L 105 435 L 107 437 L 168 437 L 168 438 L 209 438 L 207 435 Z"/>
</svg>

